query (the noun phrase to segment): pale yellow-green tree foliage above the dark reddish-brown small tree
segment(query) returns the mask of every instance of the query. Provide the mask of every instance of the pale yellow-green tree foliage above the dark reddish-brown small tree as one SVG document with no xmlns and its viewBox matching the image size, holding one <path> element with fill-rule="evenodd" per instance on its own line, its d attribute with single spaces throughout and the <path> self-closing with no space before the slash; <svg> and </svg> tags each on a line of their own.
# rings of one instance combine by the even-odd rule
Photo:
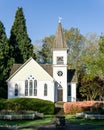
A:
<svg viewBox="0 0 104 130">
<path fill-rule="evenodd" d="M 96 65 L 95 63 L 99 58 L 98 56 L 99 38 L 97 34 L 87 34 L 85 38 L 86 39 L 84 46 L 82 48 L 82 54 L 78 59 L 78 71 L 79 73 L 85 72 L 86 74 L 88 74 L 90 78 L 94 78 L 95 73 L 93 73 L 92 71 L 95 71 L 96 68 L 94 67 L 94 65 Z"/>
</svg>

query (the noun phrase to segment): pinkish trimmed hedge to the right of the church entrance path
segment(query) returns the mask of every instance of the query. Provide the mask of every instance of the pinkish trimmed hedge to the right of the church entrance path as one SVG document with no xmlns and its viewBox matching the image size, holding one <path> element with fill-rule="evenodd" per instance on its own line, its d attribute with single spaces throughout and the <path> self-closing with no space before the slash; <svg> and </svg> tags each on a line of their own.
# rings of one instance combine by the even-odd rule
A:
<svg viewBox="0 0 104 130">
<path fill-rule="evenodd" d="M 103 105 L 102 105 L 103 104 Z M 83 101 L 83 102 L 66 102 L 64 103 L 65 114 L 76 114 L 85 111 L 97 111 L 104 107 L 102 101 Z M 104 110 L 104 109 L 103 109 Z"/>
</svg>

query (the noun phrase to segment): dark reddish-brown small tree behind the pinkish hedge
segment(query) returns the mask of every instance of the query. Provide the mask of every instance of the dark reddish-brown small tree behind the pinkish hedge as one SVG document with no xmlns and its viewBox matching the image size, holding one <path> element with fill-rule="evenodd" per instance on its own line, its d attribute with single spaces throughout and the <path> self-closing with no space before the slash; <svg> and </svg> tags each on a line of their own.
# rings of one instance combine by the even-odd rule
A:
<svg viewBox="0 0 104 130">
<path fill-rule="evenodd" d="M 104 81 L 99 77 L 87 80 L 86 76 L 83 76 L 79 91 L 82 97 L 87 100 L 101 99 L 104 96 Z"/>
</svg>

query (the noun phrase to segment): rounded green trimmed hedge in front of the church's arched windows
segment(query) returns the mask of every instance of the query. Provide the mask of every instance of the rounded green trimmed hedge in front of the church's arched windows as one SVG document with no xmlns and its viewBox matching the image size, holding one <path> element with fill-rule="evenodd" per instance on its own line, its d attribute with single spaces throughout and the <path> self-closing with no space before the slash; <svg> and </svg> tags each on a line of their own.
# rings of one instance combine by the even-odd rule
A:
<svg viewBox="0 0 104 130">
<path fill-rule="evenodd" d="M 38 111 L 44 114 L 54 114 L 54 103 L 36 98 L 14 98 L 0 100 L 0 110 Z"/>
</svg>

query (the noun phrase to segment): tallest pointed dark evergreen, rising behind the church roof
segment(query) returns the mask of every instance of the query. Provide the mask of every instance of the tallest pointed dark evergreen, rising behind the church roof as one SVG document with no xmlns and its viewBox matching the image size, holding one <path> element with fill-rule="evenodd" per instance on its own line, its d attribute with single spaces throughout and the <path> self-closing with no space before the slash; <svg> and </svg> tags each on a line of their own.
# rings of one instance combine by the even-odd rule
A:
<svg viewBox="0 0 104 130">
<path fill-rule="evenodd" d="M 33 45 L 27 34 L 23 9 L 18 8 L 10 35 L 11 57 L 16 63 L 24 63 L 33 56 Z"/>
</svg>

